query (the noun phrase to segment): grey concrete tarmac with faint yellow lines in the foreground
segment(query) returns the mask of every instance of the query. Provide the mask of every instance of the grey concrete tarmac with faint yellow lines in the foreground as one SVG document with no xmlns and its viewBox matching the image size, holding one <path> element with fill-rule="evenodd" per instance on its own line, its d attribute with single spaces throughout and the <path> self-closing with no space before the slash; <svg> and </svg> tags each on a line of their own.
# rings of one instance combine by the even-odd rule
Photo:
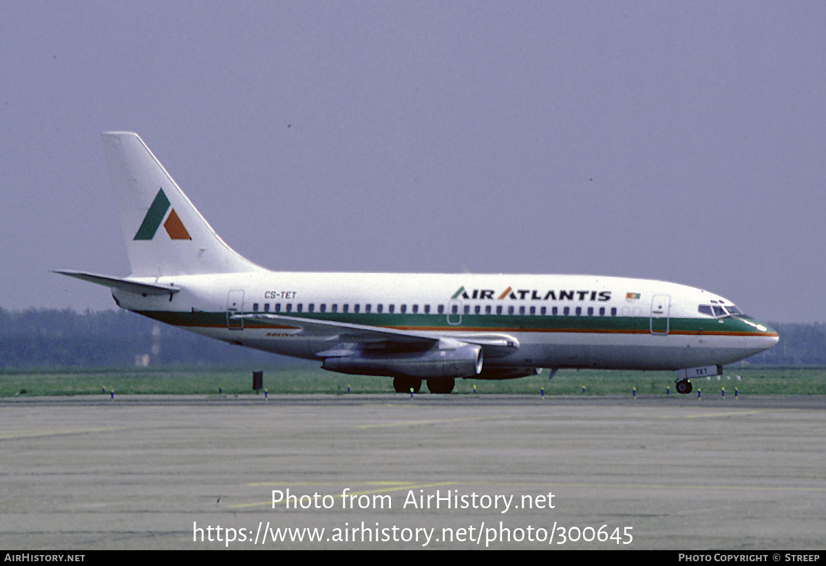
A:
<svg viewBox="0 0 826 566">
<path fill-rule="evenodd" d="M 821 396 L 2 399 L 0 545 L 822 550 L 824 440 Z"/>
</svg>

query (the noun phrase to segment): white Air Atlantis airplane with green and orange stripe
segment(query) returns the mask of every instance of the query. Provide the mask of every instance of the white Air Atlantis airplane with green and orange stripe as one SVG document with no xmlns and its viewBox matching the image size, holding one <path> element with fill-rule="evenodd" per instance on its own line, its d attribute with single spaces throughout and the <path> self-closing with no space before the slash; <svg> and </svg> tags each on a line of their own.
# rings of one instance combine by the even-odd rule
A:
<svg viewBox="0 0 826 566">
<path fill-rule="evenodd" d="M 722 375 L 774 346 L 767 324 L 706 290 L 609 276 L 296 273 L 232 250 L 131 132 L 102 134 L 131 266 L 127 277 L 55 271 L 109 287 L 116 304 L 325 370 L 422 380 L 550 377 L 561 368 Z"/>
</svg>

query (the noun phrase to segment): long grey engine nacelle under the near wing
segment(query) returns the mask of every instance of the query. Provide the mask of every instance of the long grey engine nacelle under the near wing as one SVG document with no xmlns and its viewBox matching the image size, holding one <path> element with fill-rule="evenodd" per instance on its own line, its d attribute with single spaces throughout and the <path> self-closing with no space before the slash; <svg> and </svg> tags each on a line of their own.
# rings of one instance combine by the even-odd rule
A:
<svg viewBox="0 0 826 566">
<path fill-rule="evenodd" d="M 326 358 L 321 366 L 328 371 L 353 375 L 390 377 L 477 377 L 482 372 L 482 347 L 463 344 L 455 348 L 387 353 L 357 351 L 351 356 Z"/>
</svg>

